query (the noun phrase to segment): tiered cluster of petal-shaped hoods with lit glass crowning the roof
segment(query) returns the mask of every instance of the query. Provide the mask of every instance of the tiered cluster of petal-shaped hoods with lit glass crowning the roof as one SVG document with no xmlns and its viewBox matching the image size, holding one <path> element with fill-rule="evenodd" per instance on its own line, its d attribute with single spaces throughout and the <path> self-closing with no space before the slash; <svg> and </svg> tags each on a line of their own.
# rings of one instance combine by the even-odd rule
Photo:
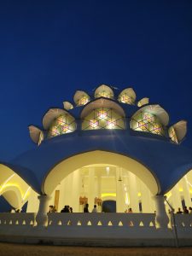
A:
<svg viewBox="0 0 192 256">
<path fill-rule="evenodd" d="M 102 84 L 93 96 L 77 90 L 73 102 L 63 102 L 63 109 L 50 108 L 44 114 L 43 129 L 30 125 L 32 141 L 40 145 L 45 139 L 76 130 L 100 129 L 127 130 L 137 132 L 139 136 L 148 132 L 171 139 L 173 143 L 180 143 L 186 135 L 186 121 L 168 126 L 168 113 L 160 105 L 149 104 L 147 97 L 137 102 L 132 88 L 118 93 L 118 90 Z"/>
</svg>

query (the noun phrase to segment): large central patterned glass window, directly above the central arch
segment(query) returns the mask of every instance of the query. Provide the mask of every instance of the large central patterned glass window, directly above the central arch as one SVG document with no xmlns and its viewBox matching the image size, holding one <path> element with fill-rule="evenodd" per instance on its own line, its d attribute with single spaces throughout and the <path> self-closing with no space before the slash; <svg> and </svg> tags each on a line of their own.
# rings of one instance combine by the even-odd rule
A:
<svg viewBox="0 0 192 256">
<path fill-rule="evenodd" d="M 96 108 L 82 122 L 82 130 L 125 129 L 125 120 L 111 108 Z"/>
</svg>

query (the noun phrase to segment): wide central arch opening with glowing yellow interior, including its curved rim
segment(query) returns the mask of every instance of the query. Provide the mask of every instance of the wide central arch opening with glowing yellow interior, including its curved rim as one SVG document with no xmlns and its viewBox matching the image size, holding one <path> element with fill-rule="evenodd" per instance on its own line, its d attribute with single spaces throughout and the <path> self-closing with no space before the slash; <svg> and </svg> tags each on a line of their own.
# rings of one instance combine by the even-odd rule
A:
<svg viewBox="0 0 192 256">
<path fill-rule="evenodd" d="M 149 207 L 148 200 L 158 194 L 159 184 L 137 160 L 96 150 L 62 160 L 44 178 L 42 190 L 51 195 L 49 204 L 58 212 L 65 205 L 73 207 L 73 212 L 82 212 L 85 202 L 90 204 L 90 211 L 95 203 L 101 211 L 102 202 L 108 200 L 116 201 L 117 212 L 128 207 L 134 212 L 153 212 L 154 203 Z"/>
</svg>

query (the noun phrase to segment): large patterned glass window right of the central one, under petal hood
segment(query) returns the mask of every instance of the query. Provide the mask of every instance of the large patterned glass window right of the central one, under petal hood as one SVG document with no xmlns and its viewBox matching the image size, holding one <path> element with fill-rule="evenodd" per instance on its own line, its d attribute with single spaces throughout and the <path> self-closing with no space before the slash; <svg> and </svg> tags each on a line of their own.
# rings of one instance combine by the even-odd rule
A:
<svg viewBox="0 0 192 256">
<path fill-rule="evenodd" d="M 134 131 L 146 131 L 158 135 L 165 135 L 159 119 L 152 113 L 140 112 L 131 118 L 131 129 Z"/>
</svg>

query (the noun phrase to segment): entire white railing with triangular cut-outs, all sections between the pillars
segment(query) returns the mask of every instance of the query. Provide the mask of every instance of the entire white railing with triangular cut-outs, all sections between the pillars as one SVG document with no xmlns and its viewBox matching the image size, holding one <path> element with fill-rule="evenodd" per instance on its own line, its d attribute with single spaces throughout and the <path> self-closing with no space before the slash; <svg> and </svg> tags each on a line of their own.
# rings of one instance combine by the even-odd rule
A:
<svg viewBox="0 0 192 256">
<path fill-rule="evenodd" d="M 37 213 L 0 213 L 0 225 L 36 225 Z M 192 214 L 175 214 L 177 229 L 192 230 Z M 53 226 L 101 226 L 155 228 L 154 213 L 48 213 L 48 228 Z M 172 222 L 173 225 L 173 222 Z M 170 227 L 172 226 L 170 224 Z"/>
</svg>

